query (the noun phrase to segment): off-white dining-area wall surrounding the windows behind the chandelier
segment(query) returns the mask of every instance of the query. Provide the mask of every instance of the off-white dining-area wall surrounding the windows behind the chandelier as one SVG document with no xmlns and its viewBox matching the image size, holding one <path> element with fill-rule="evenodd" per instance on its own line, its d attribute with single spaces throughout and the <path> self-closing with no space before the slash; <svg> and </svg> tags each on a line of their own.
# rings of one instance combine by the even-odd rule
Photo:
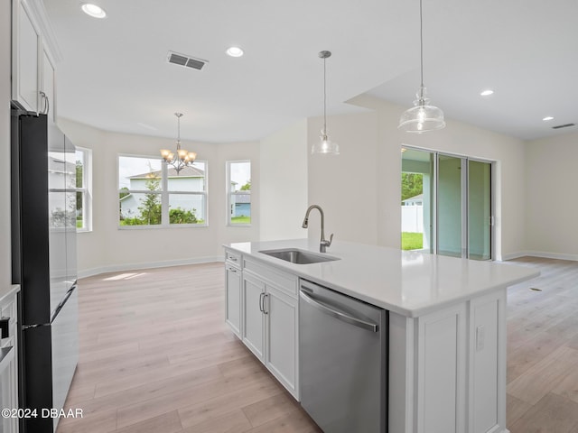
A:
<svg viewBox="0 0 578 433">
<path fill-rule="evenodd" d="M 208 161 L 209 226 L 119 229 L 118 154 L 157 156 L 173 140 L 103 132 L 66 119 L 59 125 L 72 143 L 92 149 L 93 156 L 93 231 L 78 235 L 79 275 L 215 261 L 223 255 L 221 244 L 258 239 L 258 221 L 251 227 L 225 227 L 225 161 L 251 159 L 252 177 L 258 181 L 258 143 L 182 142 L 183 148 Z M 258 189 L 251 197 L 258 209 Z"/>
</svg>

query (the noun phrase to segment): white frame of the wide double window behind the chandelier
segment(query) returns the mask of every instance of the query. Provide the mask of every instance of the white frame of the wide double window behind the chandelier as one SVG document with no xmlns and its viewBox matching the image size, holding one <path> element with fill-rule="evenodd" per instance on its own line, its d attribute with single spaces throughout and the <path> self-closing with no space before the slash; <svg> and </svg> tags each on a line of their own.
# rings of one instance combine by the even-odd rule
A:
<svg viewBox="0 0 578 433">
<path fill-rule="evenodd" d="M 168 178 L 168 164 L 163 161 L 162 157 L 151 156 L 151 155 L 140 155 L 135 153 L 118 153 L 117 154 L 117 193 L 120 193 L 120 185 L 118 184 L 120 178 L 120 158 L 143 158 L 146 160 L 161 161 L 161 184 L 160 189 L 151 191 L 150 189 L 128 189 L 129 194 L 157 194 L 161 198 L 161 224 L 151 224 L 142 226 L 123 226 L 120 224 L 120 216 L 117 215 L 117 228 L 119 230 L 148 230 L 148 229 L 158 229 L 158 228 L 195 228 L 195 227 L 208 227 L 209 226 L 209 161 L 207 160 L 196 160 L 195 162 L 202 162 L 204 164 L 204 190 L 202 191 L 182 191 L 182 190 L 169 190 L 169 178 Z M 171 224 L 169 216 L 169 201 L 171 195 L 186 195 L 186 196 L 201 196 L 203 200 L 204 215 L 200 218 L 203 219 L 203 223 L 200 224 Z M 117 198 L 119 200 L 119 198 Z M 119 206 L 119 202 L 117 202 Z"/>
</svg>

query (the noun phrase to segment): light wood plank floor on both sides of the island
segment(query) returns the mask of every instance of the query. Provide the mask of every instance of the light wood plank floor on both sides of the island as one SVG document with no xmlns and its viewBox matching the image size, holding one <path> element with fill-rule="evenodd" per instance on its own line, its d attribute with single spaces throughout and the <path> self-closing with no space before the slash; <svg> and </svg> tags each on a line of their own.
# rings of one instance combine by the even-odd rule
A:
<svg viewBox="0 0 578 433">
<path fill-rule="evenodd" d="M 508 291 L 508 428 L 578 433 L 578 263 L 512 263 L 542 275 Z M 79 281 L 84 418 L 58 433 L 320 432 L 225 327 L 223 285 L 222 263 Z"/>
</svg>

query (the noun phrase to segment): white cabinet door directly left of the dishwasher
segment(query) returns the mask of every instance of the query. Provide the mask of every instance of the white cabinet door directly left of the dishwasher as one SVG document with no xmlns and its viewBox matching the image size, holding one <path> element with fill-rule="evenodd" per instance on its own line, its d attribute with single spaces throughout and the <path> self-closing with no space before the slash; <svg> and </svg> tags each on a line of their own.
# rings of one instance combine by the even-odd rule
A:
<svg viewBox="0 0 578 433">
<path fill-rule="evenodd" d="M 284 387 L 297 394 L 297 320 L 298 301 L 267 286 L 266 366 Z"/>
</svg>

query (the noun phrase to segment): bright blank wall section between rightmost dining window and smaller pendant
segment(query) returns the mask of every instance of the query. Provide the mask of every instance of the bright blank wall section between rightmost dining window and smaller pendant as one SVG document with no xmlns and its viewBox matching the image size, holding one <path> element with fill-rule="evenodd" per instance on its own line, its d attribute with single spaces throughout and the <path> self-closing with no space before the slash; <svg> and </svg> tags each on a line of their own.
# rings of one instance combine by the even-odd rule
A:
<svg viewBox="0 0 578 433">
<path fill-rule="evenodd" d="M 307 237 L 307 121 L 261 140 L 261 240 Z"/>
</svg>

